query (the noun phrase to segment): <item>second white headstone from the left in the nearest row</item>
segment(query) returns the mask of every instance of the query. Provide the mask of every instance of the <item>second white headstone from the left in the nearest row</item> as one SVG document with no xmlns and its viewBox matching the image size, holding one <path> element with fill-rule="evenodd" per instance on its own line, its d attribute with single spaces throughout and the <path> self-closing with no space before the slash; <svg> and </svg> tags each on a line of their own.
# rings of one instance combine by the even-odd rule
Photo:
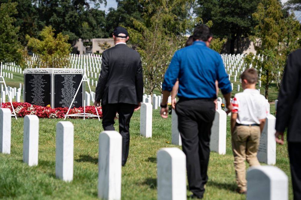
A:
<svg viewBox="0 0 301 200">
<path fill-rule="evenodd" d="M 29 166 L 38 165 L 39 157 L 39 118 L 36 115 L 25 115 L 23 128 L 23 163 Z"/>
</svg>

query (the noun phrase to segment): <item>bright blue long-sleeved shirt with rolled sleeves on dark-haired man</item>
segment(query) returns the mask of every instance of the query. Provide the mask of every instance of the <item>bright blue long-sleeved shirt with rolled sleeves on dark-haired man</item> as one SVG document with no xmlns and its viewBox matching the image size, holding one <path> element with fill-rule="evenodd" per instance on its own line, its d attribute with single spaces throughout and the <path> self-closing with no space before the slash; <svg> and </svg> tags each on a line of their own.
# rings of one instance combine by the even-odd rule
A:
<svg viewBox="0 0 301 200">
<path fill-rule="evenodd" d="M 215 80 L 222 94 L 231 92 L 231 84 L 220 54 L 195 41 L 175 52 L 164 76 L 163 90 L 171 91 L 179 78 L 178 97 L 216 98 Z"/>
</svg>

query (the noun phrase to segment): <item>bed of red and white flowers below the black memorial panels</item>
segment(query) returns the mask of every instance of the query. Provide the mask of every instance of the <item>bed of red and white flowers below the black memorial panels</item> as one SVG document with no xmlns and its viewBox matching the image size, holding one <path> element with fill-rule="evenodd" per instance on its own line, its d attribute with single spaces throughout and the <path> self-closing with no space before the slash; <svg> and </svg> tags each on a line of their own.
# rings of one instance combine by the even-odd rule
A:
<svg viewBox="0 0 301 200">
<path fill-rule="evenodd" d="M 17 117 L 24 117 L 25 115 L 37 115 L 39 118 L 65 118 L 69 108 L 51 108 L 43 106 L 35 106 L 30 103 L 12 102 Z M 11 112 L 13 109 L 11 103 L 2 103 L 2 108 L 9 108 Z M 102 109 L 98 109 L 98 115 L 102 118 Z M 79 114 L 84 112 L 84 107 L 71 108 L 68 115 Z M 97 115 L 94 106 L 85 106 L 85 113 Z M 83 118 L 83 117 L 70 117 L 67 118 Z"/>
</svg>

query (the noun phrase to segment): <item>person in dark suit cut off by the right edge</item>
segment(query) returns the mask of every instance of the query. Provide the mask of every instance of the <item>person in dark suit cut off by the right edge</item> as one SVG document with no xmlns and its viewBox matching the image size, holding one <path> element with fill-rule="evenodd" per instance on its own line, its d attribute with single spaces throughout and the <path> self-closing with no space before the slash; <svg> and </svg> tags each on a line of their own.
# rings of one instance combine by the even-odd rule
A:
<svg viewBox="0 0 301 200">
<path fill-rule="evenodd" d="M 292 174 L 294 200 L 301 199 L 301 49 L 287 58 L 278 96 L 276 115 L 276 142 L 283 144 L 287 127 L 288 154 Z M 279 139 L 279 136 L 281 138 Z"/>
</svg>

